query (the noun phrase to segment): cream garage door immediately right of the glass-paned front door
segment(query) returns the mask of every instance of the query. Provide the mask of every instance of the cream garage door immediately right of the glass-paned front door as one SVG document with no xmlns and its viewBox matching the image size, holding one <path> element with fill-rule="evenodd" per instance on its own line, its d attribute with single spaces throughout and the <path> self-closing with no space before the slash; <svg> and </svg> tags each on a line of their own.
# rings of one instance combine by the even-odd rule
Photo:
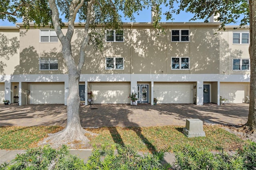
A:
<svg viewBox="0 0 256 170">
<path fill-rule="evenodd" d="M 192 103 L 192 85 L 155 84 L 154 97 L 159 103 Z"/>
</svg>

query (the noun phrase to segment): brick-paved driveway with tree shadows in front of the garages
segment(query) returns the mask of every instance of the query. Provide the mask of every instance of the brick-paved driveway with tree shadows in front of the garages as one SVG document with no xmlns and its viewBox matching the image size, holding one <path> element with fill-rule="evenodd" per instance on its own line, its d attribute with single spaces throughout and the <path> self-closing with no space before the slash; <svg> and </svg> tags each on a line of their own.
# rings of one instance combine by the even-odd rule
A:
<svg viewBox="0 0 256 170">
<path fill-rule="evenodd" d="M 200 119 L 204 124 L 244 124 L 249 104 L 94 104 L 80 106 L 82 127 L 148 127 L 186 125 L 186 119 Z M 66 126 L 66 106 L 0 105 L 0 126 Z"/>
</svg>

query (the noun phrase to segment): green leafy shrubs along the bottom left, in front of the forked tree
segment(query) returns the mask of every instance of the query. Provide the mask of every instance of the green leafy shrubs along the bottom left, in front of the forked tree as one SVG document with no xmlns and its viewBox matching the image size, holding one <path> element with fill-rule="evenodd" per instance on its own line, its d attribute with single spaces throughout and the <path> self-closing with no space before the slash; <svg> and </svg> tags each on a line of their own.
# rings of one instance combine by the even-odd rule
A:
<svg viewBox="0 0 256 170">
<path fill-rule="evenodd" d="M 1 164 L 0 170 L 164 170 L 168 168 L 161 164 L 164 153 L 165 151 L 160 151 L 141 156 L 128 147 L 102 146 L 101 149 L 94 148 L 85 164 L 84 160 L 70 155 L 66 146 L 55 150 L 47 145 L 44 148 L 30 149 L 25 154 L 17 154 L 11 161 L 12 165 Z"/>
</svg>

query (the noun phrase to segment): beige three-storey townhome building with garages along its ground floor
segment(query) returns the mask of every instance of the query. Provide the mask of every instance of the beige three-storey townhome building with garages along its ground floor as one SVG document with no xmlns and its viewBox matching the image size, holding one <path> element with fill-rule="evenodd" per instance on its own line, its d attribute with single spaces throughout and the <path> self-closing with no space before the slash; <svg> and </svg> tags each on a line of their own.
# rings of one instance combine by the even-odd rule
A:
<svg viewBox="0 0 256 170">
<path fill-rule="evenodd" d="M 18 52 L 1 57 L 0 98 L 19 105 L 67 104 L 68 70 L 62 45 L 54 30 L 1 27 L 0 34 L 17 37 Z M 249 30 L 220 22 L 166 22 L 164 34 L 152 23 L 124 23 L 122 30 L 106 30 L 104 49 L 86 49 L 80 76 L 80 100 L 131 103 L 129 93 L 138 93 L 137 103 L 220 104 L 247 101 L 250 91 Z M 237 29 L 234 29 L 237 28 Z M 99 28 L 100 29 L 100 28 Z M 63 32 L 66 32 L 64 27 Z M 78 60 L 83 26 L 76 24 L 72 38 Z M 11 44 L 10 44 L 11 45 Z M 17 100 L 18 98 L 18 100 Z"/>
</svg>

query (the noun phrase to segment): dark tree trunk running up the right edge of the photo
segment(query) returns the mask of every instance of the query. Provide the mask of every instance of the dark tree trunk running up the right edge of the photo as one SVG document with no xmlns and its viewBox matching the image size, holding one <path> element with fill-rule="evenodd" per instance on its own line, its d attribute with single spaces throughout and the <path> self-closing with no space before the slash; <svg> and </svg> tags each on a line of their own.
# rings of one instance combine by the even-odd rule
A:
<svg viewBox="0 0 256 170">
<path fill-rule="evenodd" d="M 252 129 L 256 129 L 256 1 L 249 0 L 250 6 L 250 105 L 248 121 Z"/>
</svg>

